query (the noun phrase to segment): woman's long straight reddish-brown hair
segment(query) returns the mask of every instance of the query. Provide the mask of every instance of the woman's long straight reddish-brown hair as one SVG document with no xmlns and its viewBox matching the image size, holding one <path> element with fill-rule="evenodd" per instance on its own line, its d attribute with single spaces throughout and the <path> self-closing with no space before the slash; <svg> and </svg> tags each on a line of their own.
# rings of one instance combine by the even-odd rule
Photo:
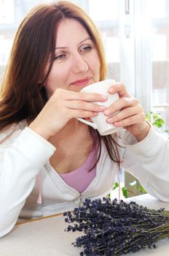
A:
<svg viewBox="0 0 169 256">
<path fill-rule="evenodd" d="M 101 61 L 100 80 L 106 78 L 107 67 L 101 37 L 87 13 L 69 1 L 41 4 L 28 12 L 15 35 L 1 85 L 0 131 L 23 120 L 29 124 L 47 102 L 47 92 L 42 85 L 55 58 L 58 24 L 65 18 L 78 20 L 90 34 Z M 50 64 L 44 72 L 47 63 Z M 105 143 L 111 159 L 119 162 L 115 140 L 110 135 L 99 137 L 99 140 Z"/>
</svg>

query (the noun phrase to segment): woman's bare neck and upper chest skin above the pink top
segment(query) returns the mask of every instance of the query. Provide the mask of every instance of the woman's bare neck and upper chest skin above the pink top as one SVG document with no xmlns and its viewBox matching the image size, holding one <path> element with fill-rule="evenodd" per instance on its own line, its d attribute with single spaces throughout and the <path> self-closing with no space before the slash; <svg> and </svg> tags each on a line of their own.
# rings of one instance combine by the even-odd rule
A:
<svg viewBox="0 0 169 256">
<path fill-rule="evenodd" d="M 82 166 L 90 154 L 93 138 L 86 124 L 70 121 L 50 143 L 57 149 L 50 157 L 50 165 L 58 173 L 69 173 Z"/>
</svg>

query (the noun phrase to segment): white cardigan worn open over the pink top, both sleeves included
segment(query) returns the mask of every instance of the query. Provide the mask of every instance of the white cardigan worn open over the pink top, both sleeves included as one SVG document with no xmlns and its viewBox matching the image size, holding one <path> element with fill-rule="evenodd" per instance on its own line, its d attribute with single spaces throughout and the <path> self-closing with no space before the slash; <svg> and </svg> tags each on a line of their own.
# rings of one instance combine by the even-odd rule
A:
<svg viewBox="0 0 169 256">
<path fill-rule="evenodd" d="M 0 140 L 7 133 L 0 135 Z M 146 191 L 169 202 L 169 140 L 153 127 L 144 140 L 137 143 L 129 132 L 122 130 L 119 143 L 122 167 L 136 176 Z M 96 177 L 79 194 L 69 187 L 52 168 L 49 159 L 57 150 L 47 140 L 20 124 L 8 140 L 0 144 L 0 237 L 9 233 L 20 217 L 41 217 L 68 211 L 84 198 L 95 199 L 108 194 L 114 186 L 117 164 L 111 162 L 102 145 Z M 37 203 L 42 181 L 42 204 Z"/>
</svg>

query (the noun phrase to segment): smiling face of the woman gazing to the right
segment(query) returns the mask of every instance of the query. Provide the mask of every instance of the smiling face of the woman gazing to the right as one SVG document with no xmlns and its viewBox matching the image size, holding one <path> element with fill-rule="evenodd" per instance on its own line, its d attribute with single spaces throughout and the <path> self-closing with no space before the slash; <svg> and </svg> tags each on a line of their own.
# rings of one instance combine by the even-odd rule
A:
<svg viewBox="0 0 169 256">
<path fill-rule="evenodd" d="M 62 20 L 56 38 L 55 60 L 45 84 L 48 95 L 58 88 L 80 91 L 98 82 L 101 61 L 82 24 L 72 18 Z"/>
</svg>

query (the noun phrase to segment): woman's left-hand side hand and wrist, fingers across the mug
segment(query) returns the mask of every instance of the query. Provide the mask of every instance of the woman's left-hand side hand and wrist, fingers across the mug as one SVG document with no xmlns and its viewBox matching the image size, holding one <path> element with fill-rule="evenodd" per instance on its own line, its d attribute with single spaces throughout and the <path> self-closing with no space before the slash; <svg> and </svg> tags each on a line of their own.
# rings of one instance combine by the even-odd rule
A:
<svg viewBox="0 0 169 256">
<path fill-rule="evenodd" d="M 98 116 L 98 112 L 103 112 L 106 108 L 93 102 L 104 102 L 106 99 L 107 97 L 101 94 L 57 89 L 29 127 L 48 140 L 71 118 Z"/>
</svg>

